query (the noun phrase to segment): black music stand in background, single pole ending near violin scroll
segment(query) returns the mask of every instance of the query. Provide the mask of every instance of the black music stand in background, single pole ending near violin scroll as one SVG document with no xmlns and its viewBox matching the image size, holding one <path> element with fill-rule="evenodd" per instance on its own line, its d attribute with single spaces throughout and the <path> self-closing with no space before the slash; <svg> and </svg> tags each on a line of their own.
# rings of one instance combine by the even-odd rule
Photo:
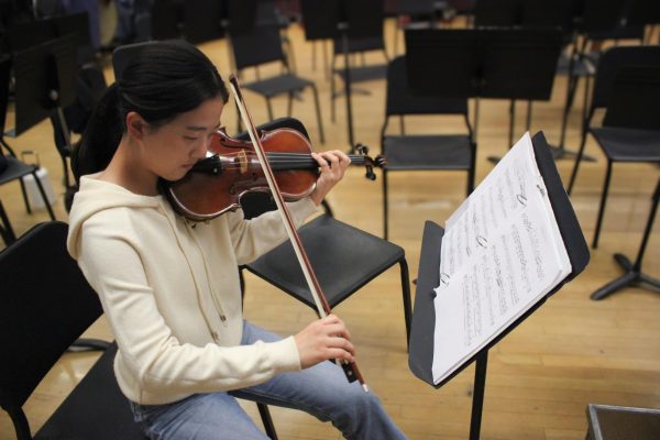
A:
<svg viewBox="0 0 660 440">
<path fill-rule="evenodd" d="M 300 9 L 307 40 L 340 40 L 342 42 L 348 136 L 351 153 L 354 153 L 349 40 L 370 38 L 383 34 L 383 0 L 301 0 Z"/>
</svg>

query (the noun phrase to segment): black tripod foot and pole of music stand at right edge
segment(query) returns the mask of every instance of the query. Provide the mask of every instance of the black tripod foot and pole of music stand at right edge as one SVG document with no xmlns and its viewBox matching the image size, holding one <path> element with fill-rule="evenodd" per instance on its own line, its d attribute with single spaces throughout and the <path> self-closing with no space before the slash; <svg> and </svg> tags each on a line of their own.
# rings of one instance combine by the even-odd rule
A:
<svg viewBox="0 0 660 440">
<path fill-rule="evenodd" d="M 653 278 L 641 272 L 641 260 L 644 258 L 644 253 L 646 252 L 646 246 L 649 242 L 649 235 L 651 234 L 651 229 L 653 228 L 656 212 L 658 211 L 658 200 L 660 200 L 660 180 L 658 180 L 658 186 L 656 186 L 656 193 L 653 194 L 652 200 L 653 202 L 651 204 L 649 220 L 647 221 L 647 226 L 641 238 L 641 244 L 639 246 L 639 252 L 637 253 L 637 260 L 635 261 L 635 264 L 632 264 L 630 260 L 628 260 L 628 257 L 622 253 L 614 254 L 614 260 L 626 271 L 626 273 L 594 292 L 591 296 L 592 299 L 603 299 L 614 294 L 618 289 L 642 283 L 653 287 L 657 292 L 660 292 L 660 279 Z"/>
</svg>

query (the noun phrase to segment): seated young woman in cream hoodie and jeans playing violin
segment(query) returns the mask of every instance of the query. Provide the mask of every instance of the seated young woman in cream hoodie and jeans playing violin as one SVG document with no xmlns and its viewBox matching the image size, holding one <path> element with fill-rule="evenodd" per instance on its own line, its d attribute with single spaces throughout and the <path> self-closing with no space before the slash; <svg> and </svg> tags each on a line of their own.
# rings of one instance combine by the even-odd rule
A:
<svg viewBox="0 0 660 440">
<path fill-rule="evenodd" d="M 158 193 L 160 178 L 179 179 L 206 156 L 227 99 L 195 46 L 148 45 L 99 103 L 78 154 L 86 175 L 68 249 L 101 298 L 135 420 L 153 439 L 264 438 L 240 396 L 304 409 L 350 439 L 405 438 L 373 393 L 323 362 L 354 358 L 339 318 L 284 339 L 243 320 L 237 266 L 285 240 L 277 212 L 190 224 Z M 298 224 L 350 163 L 339 151 L 315 158 L 314 193 L 290 204 Z"/>
</svg>

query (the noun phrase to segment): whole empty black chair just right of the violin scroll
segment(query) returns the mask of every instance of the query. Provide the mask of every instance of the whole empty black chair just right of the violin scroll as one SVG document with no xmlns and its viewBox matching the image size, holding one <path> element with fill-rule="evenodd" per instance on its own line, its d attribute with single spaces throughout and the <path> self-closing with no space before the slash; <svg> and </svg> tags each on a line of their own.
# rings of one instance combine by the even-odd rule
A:
<svg viewBox="0 0 660 440">
<path fill-rule="evenodd" d="M 404 117 L 421 114 L 460 114 L 464 118 L 464 134 L 405 133 Z M 386 134 L 391 117 L 400 118 L 399 135 Z M 383 170 L 383 224 L 384 238 L 388 238 L 388 187 L 387 175 L 396 170 L 465 170 L 468 172 L 466 194 L 474 188 L 476 143 L 468 113 L 466 98 L 438 98 L 416 95 L 408 88 L 406 58 L 399 56 L 389 63 L 387 69 L 387 98 L 385 123 L 381 132 L 383 155 L 387 166 Z"/>
</svg>

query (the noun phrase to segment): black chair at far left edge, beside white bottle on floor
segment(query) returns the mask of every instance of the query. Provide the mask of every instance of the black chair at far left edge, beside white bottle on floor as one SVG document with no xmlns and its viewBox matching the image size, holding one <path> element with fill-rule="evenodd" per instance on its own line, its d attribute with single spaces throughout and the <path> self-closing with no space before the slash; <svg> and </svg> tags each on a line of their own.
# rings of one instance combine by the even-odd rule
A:
<svg viewBox="0 0 660 440">
<path fill-rule="evenodd" d="M 0 185 L 8 184 L 10 182 L 19 180 L 21 184 L 21 191 L 23 194 L 23 201 L 25 202 L 25 209 L 29 213 L 32 213 L 32 209 L 30 207 L 30 200 L 28 198 L 28 191 L 25 189 L 25 184 L 23 183 L 23 177 L 28 175 L 32 175 L 36 187 L 42 196 L 44 205 L 48 210 L 48 216 L 51 216 L 52 220 L 55 220 L 55 213 L 51 208 L 51 204 L 48 202 L 48 198 L 44 188 L 41 184 L 40 178 L 36 175 L 38 166 L 36 165 L 28 165 L 16 158 L 15 153 L 9 146 L 9 144 L 4 141 L 4 120 L 7 117 L 7 105 L 9 100 L 9 75 L 10 75 L 11 62 L 9 57 L 0 57 L 0 157 L 3 162 L 3 167 L 0 169 Z M 4 152 L 7 151 L 7 153 Z M 9 222 L 9 218 L 7 217 L 7 212 L 2 207 L 2 202 L 0 201 L 0 235 L 6 244 L 9 244 L 15 240 L 15 234 Z"/>
</svg>

